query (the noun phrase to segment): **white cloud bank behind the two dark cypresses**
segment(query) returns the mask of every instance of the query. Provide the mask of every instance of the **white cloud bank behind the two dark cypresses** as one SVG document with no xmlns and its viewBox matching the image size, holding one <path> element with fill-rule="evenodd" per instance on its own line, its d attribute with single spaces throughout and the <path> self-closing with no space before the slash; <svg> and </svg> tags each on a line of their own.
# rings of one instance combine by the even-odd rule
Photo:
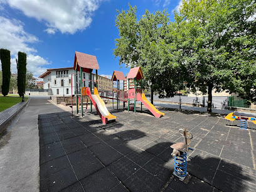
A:
<svg viewBox="0 0 256 192">
<path fill-rule="evenodd" d="M 17 73 L 16 58 L 18 51 L 27 53 L 27 69 L 32 72 L 35 77 L 38 77 L 46 71 L 46 68 L 43 66 L 50 64 L 50 62 L 39 55 L 33 55 L 37 50 L 32 48 L 29 44 L 36 43 L 39 40 L 36 36 L 24 31 L 21 21 L 0 16 L 0 29 L 0 48 L 11 51 L 12 73 Z"/>
</svg>

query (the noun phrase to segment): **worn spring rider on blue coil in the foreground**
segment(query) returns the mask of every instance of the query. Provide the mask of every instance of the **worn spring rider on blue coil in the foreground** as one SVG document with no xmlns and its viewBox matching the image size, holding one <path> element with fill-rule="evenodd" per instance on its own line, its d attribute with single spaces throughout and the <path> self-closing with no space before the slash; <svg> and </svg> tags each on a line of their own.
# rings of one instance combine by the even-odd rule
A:
<svg viewBox="0 0 256 192">
<path fill-rule="evenodd" d="M 191 132 L 187 131 L 186 128 L 179 129 L 179 133 L 184 137 L 183 142 L 178 142 L 171 145 L 173 148 L 173 152 L 171 155 L 174 157 L 174 176 L 177 176 L 182 181 L 186 178 L 188 172 L 186 171 L 186 164 L 187 164 L 187 152 L 188 150 L 194 150 L 189 147 L 190 140 L 193 138 Z"/>
</svg>

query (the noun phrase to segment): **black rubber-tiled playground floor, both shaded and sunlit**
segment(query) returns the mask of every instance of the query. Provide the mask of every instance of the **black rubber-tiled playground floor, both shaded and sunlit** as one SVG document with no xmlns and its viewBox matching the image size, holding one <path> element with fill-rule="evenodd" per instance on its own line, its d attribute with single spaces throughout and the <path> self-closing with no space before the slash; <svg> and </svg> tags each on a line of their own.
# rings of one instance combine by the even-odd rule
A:
<svg viewBox="0 0 256 192">
<path fill-rule="evenodd" d="M 156 118 L 137 107 L 109 112 L 102 124 L 95 109 L 38 116 L 40 191 L 256 191 L 256 125 L 239 128 L 225 115 L 163 109 Z M 193 133 L 186 181 L 173 176 L 171 145 Z M 187 183 L 187 184 L 186 184 Z"/>
</svg>

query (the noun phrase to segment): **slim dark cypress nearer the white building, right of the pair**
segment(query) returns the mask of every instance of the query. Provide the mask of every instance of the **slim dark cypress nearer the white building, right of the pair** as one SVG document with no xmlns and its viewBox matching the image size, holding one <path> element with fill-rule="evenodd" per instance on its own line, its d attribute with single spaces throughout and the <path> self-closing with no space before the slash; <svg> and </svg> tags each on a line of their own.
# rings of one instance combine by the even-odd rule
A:
<svg viewBox="0 0 256 192">
<path fill-rule="evenodd" d="M 26 87 L 26 53 L 22 53 L 19 51 L 17 69 L 18 69 L 18 78 L 17 78 L 18 93 L 19 93 L 19 97 L 21 97 L 25 92 L 25 87 Z"/>
</svg>

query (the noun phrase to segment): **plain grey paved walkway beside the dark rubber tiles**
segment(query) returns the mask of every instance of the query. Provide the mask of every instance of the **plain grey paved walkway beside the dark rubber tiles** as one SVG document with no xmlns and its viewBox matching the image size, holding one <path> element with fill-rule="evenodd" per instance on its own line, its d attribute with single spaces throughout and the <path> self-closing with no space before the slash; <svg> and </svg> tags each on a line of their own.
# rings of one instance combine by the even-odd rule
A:
<svg viewBox="0 0 256 192">
<path fill-rule="evenodd" d="M 46 99 L 31 98 L 0 139 L 0 191 L 39 191 L 38 114 L 62 111 Z"/>
</svg>

